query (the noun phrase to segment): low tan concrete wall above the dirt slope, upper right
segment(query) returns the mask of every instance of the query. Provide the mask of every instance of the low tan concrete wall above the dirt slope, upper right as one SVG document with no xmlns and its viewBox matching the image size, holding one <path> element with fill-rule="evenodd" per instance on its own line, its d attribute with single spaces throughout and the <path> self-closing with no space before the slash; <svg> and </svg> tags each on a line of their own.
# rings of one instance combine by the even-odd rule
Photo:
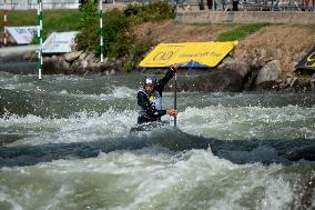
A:
<svg viewBox="0 0 315 210">
<path fill-rule="evenodd" d="M 180 11 L 176 21 L 187 23 L 289 23 L 314 24 L 315 12 L 305 11 Z"/>
</svg>

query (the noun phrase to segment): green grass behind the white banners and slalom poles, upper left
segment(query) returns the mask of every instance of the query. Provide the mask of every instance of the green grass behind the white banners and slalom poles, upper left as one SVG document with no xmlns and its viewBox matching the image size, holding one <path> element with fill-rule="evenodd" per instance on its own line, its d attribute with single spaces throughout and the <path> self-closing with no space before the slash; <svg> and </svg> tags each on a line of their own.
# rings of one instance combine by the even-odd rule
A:
<svg viewBox="0 0 315 210">
<path fill-rule="evenodd" d="M 3 10 L 1 11 L 3 13 Z M 8 27 L 37 26 L 37 10 L 8 12 Z M 80 30 L 81 13 L 79 10 L 44 10 L 43 28 L 44 32 L 61 32 Z M 3 30 L 3 21 L 0 23 Z"/>
</svg>

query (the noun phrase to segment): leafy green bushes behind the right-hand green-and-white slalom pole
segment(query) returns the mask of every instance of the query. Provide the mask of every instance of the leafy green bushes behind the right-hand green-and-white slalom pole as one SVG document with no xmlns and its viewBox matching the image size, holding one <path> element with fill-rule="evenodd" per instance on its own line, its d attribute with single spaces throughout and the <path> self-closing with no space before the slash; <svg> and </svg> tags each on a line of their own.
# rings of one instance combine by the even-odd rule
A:
<svg viewBox="0 0 315 210">
<path fill-rule="evenodd" d="M 162 20 L 174 17 L 172 6 L 166 2 L 146 6 L 130 4 L 126 9 L 135 11 L 125 16 L 121 10 L 109 10 L 103 13 L 103 53 L 108 58 L 124 60 L 123 67 L 130 71 L 143 58 L 152 46 L 151 40 L 136 41 L 132 27 L 144 21 Z M 81 33 L 77 37 L 79 50 L 100 53 L 100 31 L 98 4 L 88 2 L 81 7 Z"/>
</svg>

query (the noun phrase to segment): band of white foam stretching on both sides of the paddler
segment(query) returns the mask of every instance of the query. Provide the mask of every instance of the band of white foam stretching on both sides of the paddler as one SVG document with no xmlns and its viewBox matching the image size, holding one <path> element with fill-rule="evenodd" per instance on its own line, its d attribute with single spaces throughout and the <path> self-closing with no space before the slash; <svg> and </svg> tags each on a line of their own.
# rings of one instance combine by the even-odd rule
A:
<svg viewBox="0 0 315 210">
<path fill-rule="evenodd" d="M 69 118 L 7 114 L 0 118 L 0 124 L 10 132 L 35 134 L 29 142 L 33 139 L 37 143 L 77 142 L 125 136 L 136 118 L 136 110 L 109 109 L 103 113 L 82 111 Z M 173 118 L 165 116 L 163 120 L 172 121 Z M 179 113 L 177 127 L 187 133 L 221 140 L 312 139 L 315 137 L 315 107 L 186 108 Z"/>
</svg>

